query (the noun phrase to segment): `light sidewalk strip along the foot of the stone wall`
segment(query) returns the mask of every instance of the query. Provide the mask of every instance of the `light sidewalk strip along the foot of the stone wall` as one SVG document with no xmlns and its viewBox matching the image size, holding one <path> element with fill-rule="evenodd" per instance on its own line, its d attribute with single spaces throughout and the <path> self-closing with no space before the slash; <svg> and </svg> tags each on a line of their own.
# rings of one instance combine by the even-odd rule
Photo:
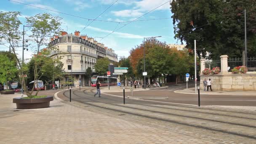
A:
<svg viewBox="0 0 256 144">
<path fill-rule="evenodd" d="M 174 93 L 184 93 L 184 94 L 197 94 L 195 93 L 195 88 L 188 88 L 184 90 L 177 90 Z M 232 96 L 256 96 L 256 91 L 203 91 L 200 90 L 200 95 L 232 95 Z"/>
</svg>

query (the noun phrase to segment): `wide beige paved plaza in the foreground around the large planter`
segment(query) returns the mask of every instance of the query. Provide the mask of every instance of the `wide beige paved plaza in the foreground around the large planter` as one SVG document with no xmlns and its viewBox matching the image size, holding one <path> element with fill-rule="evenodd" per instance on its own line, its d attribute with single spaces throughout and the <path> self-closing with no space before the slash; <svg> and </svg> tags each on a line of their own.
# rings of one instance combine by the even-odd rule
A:
<svg viewBox="0 0 256 144">
<path fill-rule="evenodd" d="M 54 99 L 50 108 L 15 109 L 0 96 L 1 144 L 187 144 L 207 140 L 109 116 L 91 106 Z M 96 111 L 96 112 L 95 112 Z"/>
</svg>

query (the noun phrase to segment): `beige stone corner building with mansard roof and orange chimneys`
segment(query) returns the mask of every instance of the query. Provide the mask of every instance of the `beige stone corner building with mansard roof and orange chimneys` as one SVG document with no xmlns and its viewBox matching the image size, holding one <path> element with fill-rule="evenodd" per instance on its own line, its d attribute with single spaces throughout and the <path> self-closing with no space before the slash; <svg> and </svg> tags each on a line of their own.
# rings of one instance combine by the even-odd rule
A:
<svg viewBox="0 0 256 144">
<path fill-rule="evenodd" d="M 91 67 L 93 74 L 96 74 L 94 65 L 97 59 L 107 57 L 110 64 L 118 61 L 117 54 L 112 48 L 105 47 L 92 37 L 80 35 L 78 31 L 75 31 L 74 35 L 61 32 L 61 35 L 50 38 L 49 45 L 59 50 L 53 51 L 50 57 L 54 59 L 61 56 L 66 74 L 65 81 L 70 81 L 72 75 L 75 87 L 79 86 L 79 81 L 81 81 L 81 86 L 89 85 L 88 80 L 85 79 L 85 71 Z"/>
</svg>

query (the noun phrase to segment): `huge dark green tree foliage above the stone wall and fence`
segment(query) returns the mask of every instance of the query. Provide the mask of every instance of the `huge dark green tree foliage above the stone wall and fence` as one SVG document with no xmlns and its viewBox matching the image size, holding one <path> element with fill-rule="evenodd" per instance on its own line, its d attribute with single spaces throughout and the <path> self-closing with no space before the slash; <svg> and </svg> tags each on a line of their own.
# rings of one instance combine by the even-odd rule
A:
<svg viewBox="0 0 256 144">
<path fill-rule="evenodd" d="M 171 12 L 175 37 L 193 48 L 197 40 L 197 54 L 212 58 L 227 54 L 242 56 L 244 50 L 244 13 L 246 9 L 248 56 L 255 53 L 256 5 L 251 0 L 173 0 Z M 254 38 L 253 38 L 254 37 Z"/>
</svg>

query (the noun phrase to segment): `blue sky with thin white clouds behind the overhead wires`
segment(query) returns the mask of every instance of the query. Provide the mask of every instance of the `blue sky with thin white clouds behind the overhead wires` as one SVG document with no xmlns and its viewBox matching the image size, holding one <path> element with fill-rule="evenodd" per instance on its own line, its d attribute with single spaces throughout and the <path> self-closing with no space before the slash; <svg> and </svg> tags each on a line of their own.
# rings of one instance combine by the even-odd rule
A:
<svg viewBox="0 0 256 144">
<path fill-rule="evenodd" d="M 129 56 L 129 51 L 132 48 L 134 48 L 136 45 L 140 45 L 141 43 L 143 43 L 144 37 L 162 36 L 157 39 L 160 41 L 166 42 L 167 44 L 180 43 L 180 41 L 174 39 L 173 21 L 171 19 L 172 13 L 170 9 L 170 3 L 169 2 L 166 3 L 168 0 L 13 0 L 13 1 L 16 1 L 19 3 L 11 2 L 9 0 L 0 0 L 0 11 L 20 11 L 22 16 L 20 16 L 19 19 L 23 24 L 26 24 L 25 17 L 35 16 L 38 13 L 51 13 L 53 16 L 60 16 L 63 18 L 62 19 L 63 24 L 61 25 L 61 28 L 64 31 L 74 34 L 75 30 L 77 30 L 81 32 L 80 34 L 88 35 L 89 37 L 96 37 L 95 39 L 98 42 L 104 43 L 104 45 L 107 46 L 108 48 L 113 48 L 115 50 L 115 53 L 117 53 L 118 56 L 125 56 L 125 57 Z M 20 3 L 25 3 L 28 5 L 24 5 Z M 166 3 L 166 4 L 157 8 L 163 3 Z M 34 5 L 34 6 L 49 9 L 52 11 L 35 8 L 29 5 Z M 109 6 L 111 7 L 109 8 Z M 105 11 L 106 9 L 107 11 Z M 153 9 L 155 10 L 148 13 Z M 53 12 L 53 11 L 57 11 L 57 12 Z M 58 12 L 61 12 L 61 13 L 58 13 Z M 80 16 L 86 19 L 78 18 L 75 16 L 68 16 L 62 13 L 68 13 L 70 15 Z M 144 14 L 146 15 L 142 16 Z M 96 19 L 97 16 L 99 17 Z M 140 16 L 142 17 L 137 19 Z M 162 18 L 168 18 L 168 19 L 162 19 Z M 92 22 L 92 20 L 88 21 L 87 19 L 96 19 L 96 20 L 104 20 L 104 21 Z M 135 19 L 137 20 L 158 19 L 158 20 L 133 21 Z M 114 22 L 109 22 L 109 21 L 114 21 Z M 129 23 L 129 22 L 123 22 L 123 21 L 133 21 L 133 22 Z M 124 24 L 127 24 L 127 25 L 124 26 Z M 86 25 L 87 27 L 85 28 Z M 21 25 L 21 28 L 22 28 L 22 25 Z M 118 30 L 115 31 L 115 29 L 118 29 Z M 29 32 L 27 32 L 27 35 L 29 35 Z M 102 39 L 99 37 L 104 37 L 104 38 Z M 6 51 L 8 50 L 8 48 L 3 45 L 0 45 L 0 50 Z M 24 58 L 29 59 L 32 53 L 33 53 L 32 50 L 26 51 L 24 54 Z"/>
</svg>

